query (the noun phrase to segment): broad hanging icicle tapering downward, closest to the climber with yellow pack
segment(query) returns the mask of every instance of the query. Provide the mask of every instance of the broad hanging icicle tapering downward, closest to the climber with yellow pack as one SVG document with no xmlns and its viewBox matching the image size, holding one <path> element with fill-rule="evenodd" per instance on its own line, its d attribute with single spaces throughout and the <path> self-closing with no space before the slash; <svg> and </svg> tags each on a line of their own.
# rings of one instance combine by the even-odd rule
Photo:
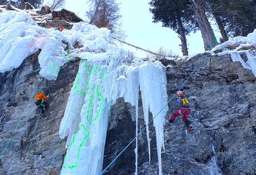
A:
<svg viewBox="0 0 256 175">
<path fill-rule="evenodd" d="M 143 106 L 148 104 L 154 118 L 154 127 L 156 130 L 156 144 L 158 149 L 159 174 L 162 174 L 161 149 L 164 148 L 164 116 L 168 110 L 166 94 L 166 75 L 164 69 L 159 63 L 158 67 L 153 64 L 143 65 L 139 69 L 139 84 L 141 87 Z M 147 87 L 148 86 L 148 87 Z"/>
</svg>

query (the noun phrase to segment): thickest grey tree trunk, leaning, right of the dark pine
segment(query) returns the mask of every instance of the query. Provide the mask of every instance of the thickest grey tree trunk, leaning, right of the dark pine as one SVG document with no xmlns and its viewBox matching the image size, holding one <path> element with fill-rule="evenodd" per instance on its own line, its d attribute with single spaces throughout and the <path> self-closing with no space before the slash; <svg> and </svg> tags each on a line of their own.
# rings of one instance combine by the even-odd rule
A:
<svg viewBox="0 0 256 175">
<path fill-rule="evenodd" d="M 195 17 L 197 17 L 197 22 L 199 29 L 201 30 L 201 35 L 203 38 L 205 50 L 211 50 L 218 44 L 210 22 L 205 15 L 205 10 L 203 9 L 204 1 L 203 0 L 189 0 L 193 4 Z"/>
</svg>

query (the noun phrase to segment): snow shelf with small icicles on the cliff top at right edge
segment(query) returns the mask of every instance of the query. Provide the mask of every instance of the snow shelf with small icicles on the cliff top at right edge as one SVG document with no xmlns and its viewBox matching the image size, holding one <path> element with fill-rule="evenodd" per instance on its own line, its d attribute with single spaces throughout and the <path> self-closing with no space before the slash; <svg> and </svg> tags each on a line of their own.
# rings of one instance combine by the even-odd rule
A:
<svg viewBox="0 0 256 175">
<path fill-rule="evenodd" d="M 232 50 L 230 50 L 232 48 Z M 254 48 L 249 50 L 243 50 L 243 48 Z M 214 47 L 212 52 L 221 50 L 218 55 L 231 55 L 232 61 L 239 61 L 246 69 L 250 69 L 256 77 L 256 29 L 247 36 L 236 36 L 230 38 L 228 41 Z M 245 61 L 241 55 L 247 56 Z"/>
</svg>

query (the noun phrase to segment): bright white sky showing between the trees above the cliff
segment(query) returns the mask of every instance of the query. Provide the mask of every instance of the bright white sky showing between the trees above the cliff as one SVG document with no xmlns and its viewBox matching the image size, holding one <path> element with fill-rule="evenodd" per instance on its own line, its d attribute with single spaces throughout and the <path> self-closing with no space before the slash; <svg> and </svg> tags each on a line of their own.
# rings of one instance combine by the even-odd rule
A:
<svg viewBox="0 0 256 175">
<path fill-rule="evenodd" d="M 88 9 L 88 0 L 66 0 L 65 8 L 73 11 L 79 17 L 86 20 L 86 10 Z M 161 46 L 166 50 L 172 50 L 174 54 L 182 56 L 181 40 L 178 35 L 170 28 L 163 28 L 162 23 L 152 23 L 152 13 L 149 8 L 150 0 L 117 0 L 121 3 L 120 13 L 123 16 L 121 21 L 123 30 L 125 31 L 125 41 L 141 48 L 146 48 L 156 52 Z M 220 38 L 220 33 L 215 32 L 217 40 Z M 195 55 L 199 52 L 204 52 L 203 39 L 201 32 L 196 32 L 187 36 L 187 44 L 189 55 Z M 146 57 L 146 52 L 125 46 L 125 49 L 132 50 L 138 57 Z"/>
</svg>

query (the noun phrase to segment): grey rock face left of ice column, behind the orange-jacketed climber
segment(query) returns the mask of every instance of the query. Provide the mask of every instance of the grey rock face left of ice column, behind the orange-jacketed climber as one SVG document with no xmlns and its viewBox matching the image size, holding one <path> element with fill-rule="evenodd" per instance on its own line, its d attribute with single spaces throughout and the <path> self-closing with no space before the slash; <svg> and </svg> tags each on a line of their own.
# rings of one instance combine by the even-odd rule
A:
<svg viewBox="0 0 256 175">
<path fill-rule="evenodd" d="M 59 174 L 65 140 L 59 139 L 59 124 L 75 75 L 76 62 L 65 65 L 56 81 L 38 74 L 38 53 L 30 56 L 11 72 L 0 74 L 0 174 Z M 51 91 L 46 118 L 36 111 L 34 95 Z M 59 151 L 55 150 L 59 144 Z"/>
</svg>

